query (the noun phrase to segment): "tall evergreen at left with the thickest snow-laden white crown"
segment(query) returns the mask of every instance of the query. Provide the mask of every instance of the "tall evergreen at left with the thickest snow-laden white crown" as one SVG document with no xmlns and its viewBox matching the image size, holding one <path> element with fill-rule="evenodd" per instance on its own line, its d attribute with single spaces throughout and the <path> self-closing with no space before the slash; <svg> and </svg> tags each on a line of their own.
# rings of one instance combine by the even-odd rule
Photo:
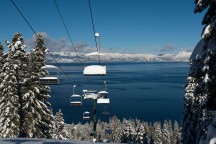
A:
<svg viewBox="0 0 216 144">
<path fill-rule="evenodd" d="M 10 73 L 9 82 L 7 83 L 7 86 L 9 88 L 13 87 L 12 89 L 9 89 L 7 87 L 4 87 L 5 83 L 2 81 L 1 87 L 2 92 L 7 91 L 7 93 L 4 93 L 2 95 L 2 98 L 4 99 L 2 102 L 2 105 L 5 105 L 7 108 L 3 109 L 1 112 L 1 115 L 4 118 L 7 117 L 8 111 L 11 109 L 14 109 L 15 116 L 18 118 L 16 120 L 16 129 L 17 126 L 19 126 L 19 130 L 16 130 L 16 135 L 17 132 L 19 133 L 18 135 L 22 135 L 22 130 L 23 130 L 23 121 L 24 121 L 24 113 L 22 111 L 22 90 L 24 88 L 24 78 L 26 75 L 26 69 L 27 69 L 27 54 L 25 53 L 25 48 L 26 46 L 24 45 L 23 37 L 20 33 L 15 33 L 12 42 L 6 41 L 7 47 L 9 48 L 9 54 L 7 55 L 6 62 L 4 64 L 4 70 L 5 70 L 5 75 L 7 75 L 7 70 L 9 70 L 8 73 Z M 7 68 L 9 67 L 9 68 Z M 1 77 L 4 77 L 4 72 L 2 73 Z M 3 78 L 2 77 L 2 78 Z M 7 98 L 5 98 L 7 97 Z M 8 106 L 8 103 L 10 103 L 10 98 L 12 98 L 13 104 L 11 106 Z M 18 115 L 18 116 L 17 116 Z M 7 121 L 13 120 L 14 118 L 7 118 Z M 19 121 L 19 122 L 17 122 Z M 9 124 L 8 124 L 9 125 Z M 14 126 L 14 124 L 12 124 Z M 3 127 L 4 129 L 4 127 Z M 3 130 L 4 131 L 4 130 Z M 21 134 L 22 133 L 22 134 Z M 7 135 L 2 133 L 3 135 Z M 7 135 L 8 136 L 8 135 Z"/>
</svg>

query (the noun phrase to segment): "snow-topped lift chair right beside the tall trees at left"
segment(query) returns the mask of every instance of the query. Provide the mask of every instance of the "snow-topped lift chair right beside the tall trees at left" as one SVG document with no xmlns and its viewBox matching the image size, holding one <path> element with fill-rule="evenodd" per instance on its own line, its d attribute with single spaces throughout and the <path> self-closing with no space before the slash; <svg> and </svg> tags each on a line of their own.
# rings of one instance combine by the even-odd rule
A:
<svg viewBox="0 0 216 144">
<path fill-rule="evenodd" d="M 40 77 L 40 84 L 42 84 L 42 85 L 59 84 L 59 70 L 56 66 L 45 65 L 41 68 L 44 70 L 47 70 L 49 72 L 49 75 L 46 77 Z M 50 73 L 52 73 L 52 75 Z"/>
</svg>

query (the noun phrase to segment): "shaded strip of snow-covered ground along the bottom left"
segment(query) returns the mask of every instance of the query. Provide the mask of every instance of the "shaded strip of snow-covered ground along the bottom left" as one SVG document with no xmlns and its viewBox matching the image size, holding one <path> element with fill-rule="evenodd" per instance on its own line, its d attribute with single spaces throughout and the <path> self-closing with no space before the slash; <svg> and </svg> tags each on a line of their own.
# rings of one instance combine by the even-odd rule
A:
<svg viewBox="0 0 216 144">
<path fill-rule="evenodd" d="M 34 138 L 0 138 L 0 144 L 91 144 L 80 140 L 53 140 Z"/>
</svg>

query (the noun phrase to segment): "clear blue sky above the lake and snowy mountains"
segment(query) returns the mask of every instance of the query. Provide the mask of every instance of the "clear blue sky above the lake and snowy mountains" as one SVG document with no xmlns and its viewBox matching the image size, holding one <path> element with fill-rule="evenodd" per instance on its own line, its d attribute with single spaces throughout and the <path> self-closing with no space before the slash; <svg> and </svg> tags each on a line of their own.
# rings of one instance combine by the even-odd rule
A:
<svg viewBox="0 0 216 144">
<path fill-rule="evenodd" d="M 36 32 L 56 43 L 68 36 L 53 0 L 14 0 Z M 56 0 L 71 38 L 95 46 L 88 0 Z M 25 40 L 33 32 L 10 0 L 0 1 L 0 41 L 15 32 Z M 194 14 L 194 0 L 91 0 L 95 30 L 106 51 L 176 53 L 191 50 L 200 39 L 203 14 Z M 81 47 L 81 46 L 80 46 Z M 72 50 L 71 50 L 72 51 Z"/>
</svg>

